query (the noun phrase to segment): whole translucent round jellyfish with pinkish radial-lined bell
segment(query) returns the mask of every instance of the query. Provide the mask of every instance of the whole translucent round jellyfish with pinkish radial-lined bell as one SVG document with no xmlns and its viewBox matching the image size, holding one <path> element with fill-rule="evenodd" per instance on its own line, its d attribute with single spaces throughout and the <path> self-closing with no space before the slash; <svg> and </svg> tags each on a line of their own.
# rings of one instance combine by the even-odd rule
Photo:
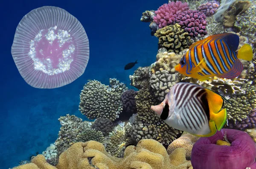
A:
<svg viewBox="0 0 256 169">
<path fill-rule="evenodd" d="M 35 88 L 57 88 L 79 78 L 89 60 L 89 40 L 79 20 L 62 8 L 43 6 L 17 26 L 12 57 Z"/>
</svg>

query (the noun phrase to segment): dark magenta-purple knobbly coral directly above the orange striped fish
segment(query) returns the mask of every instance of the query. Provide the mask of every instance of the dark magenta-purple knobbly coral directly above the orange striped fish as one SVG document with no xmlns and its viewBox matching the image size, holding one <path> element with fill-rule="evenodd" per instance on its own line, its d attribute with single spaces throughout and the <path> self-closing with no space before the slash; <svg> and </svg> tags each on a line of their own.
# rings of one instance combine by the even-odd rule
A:
<svg viewBox="0 0 256 169">
<path fill-rule="evenodd" d="M 180 12 L 176 18 L 176 22 L 189 33 L 191 37 L 197 37 L 198 34 L 204 36 L 207 34 L 204 13 L 197 10 L 188 10 Z"/>
</svg>

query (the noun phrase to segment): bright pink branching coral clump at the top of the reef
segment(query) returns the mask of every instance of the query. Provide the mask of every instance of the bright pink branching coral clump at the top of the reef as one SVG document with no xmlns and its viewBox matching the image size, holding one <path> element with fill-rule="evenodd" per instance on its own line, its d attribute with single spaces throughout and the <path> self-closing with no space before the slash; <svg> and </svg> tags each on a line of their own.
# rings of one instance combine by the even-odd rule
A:
<svg viewBox="0 0 256 169">
<path fill-rule="evenodd" d="M 165 3 L 155 11 L 154 22 L 157 23 L 159 28 L 175 24 L 177 15 L 188 9 L 188 4 L 181 1 Z"/>
</svg>

